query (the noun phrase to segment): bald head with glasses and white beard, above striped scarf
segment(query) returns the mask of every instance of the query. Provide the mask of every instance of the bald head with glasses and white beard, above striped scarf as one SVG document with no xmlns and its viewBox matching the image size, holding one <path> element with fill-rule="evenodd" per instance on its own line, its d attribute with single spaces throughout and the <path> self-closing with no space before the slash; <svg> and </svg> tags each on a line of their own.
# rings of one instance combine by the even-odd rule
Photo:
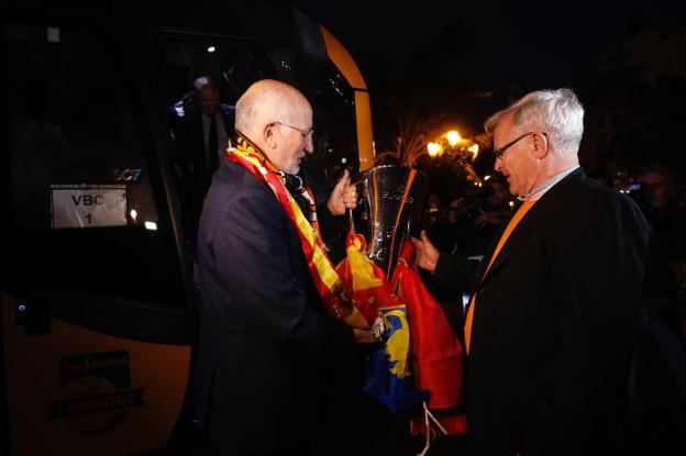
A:
<svg viewBox="0 0 686 456">
<path fill-rule="evenodd" d="M 235 105 L 235 129 L 288 174 L 313 152 L 312 107 L 286 82 L 263 79 L 248 87 Z"/>
</svg>

